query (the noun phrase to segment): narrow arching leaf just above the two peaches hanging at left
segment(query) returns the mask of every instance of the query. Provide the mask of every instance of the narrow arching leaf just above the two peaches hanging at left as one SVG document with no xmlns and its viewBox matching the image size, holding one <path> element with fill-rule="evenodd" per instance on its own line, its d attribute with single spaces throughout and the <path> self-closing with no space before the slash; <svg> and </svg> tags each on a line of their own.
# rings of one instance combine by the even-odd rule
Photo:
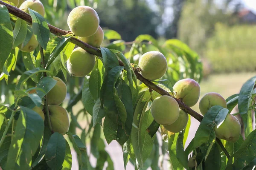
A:
<svg viewBox="0 0 256 170">
<path fill-rule="evenodd" d="M 40 72 L 46 72 L 51 74 L 50 71 L 45 70 L 44 68 L 35 68 L 33 70 L 29 70 L 29 71 L 25 71 L 21 77 L 20 80 L 15 88 L 15 90 L 21 90 L 23 88 L 24 83 L 30 78 L 32 77 L 34 74 L 38 74 Z"/>
</svg>

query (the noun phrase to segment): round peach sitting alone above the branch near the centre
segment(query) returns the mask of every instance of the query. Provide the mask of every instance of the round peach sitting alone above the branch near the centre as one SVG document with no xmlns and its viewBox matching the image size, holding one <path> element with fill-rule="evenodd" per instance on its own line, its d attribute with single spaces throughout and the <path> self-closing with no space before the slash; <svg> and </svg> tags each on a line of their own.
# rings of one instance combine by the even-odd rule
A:
<svg viewBox="0 0 256 170">
<path fill-rule="evenodd" d="M 166 73 L 167 61 L 159 51 L 149 51 L 140 57 L 139 67 L 145 79 L 160 79 Z"/>
</svg>

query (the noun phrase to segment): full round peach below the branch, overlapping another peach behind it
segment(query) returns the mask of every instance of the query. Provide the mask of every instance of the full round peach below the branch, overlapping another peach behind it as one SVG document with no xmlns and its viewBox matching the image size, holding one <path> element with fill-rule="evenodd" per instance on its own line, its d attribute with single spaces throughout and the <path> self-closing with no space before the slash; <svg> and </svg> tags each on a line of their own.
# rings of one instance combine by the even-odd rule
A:
<svg viewBox="0 0 256 170">
<path fill-rule="evenodd" d="M 151 113 L 160 125 L 170 125 L 179 117 L 179 105 L 170 96 L 160 96 L 152 102 Z"/>
</svg>

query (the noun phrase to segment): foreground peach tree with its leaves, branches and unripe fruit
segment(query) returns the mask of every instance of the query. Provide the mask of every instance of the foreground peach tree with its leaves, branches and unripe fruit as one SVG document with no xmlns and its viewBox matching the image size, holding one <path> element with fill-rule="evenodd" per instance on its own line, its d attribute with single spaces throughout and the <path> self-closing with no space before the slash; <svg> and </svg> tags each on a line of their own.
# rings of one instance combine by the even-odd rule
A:
<svg viewBox="0 0 256 170">
<path fill-rule="evenodd" d="M 206 94 L 201 116 L 190 107 L 199 99 L 202 64 L 183 42 L 147 34 L 125 42 L 102 31 L 100 16 L 78 1 L 23 1 L 0 0 L 3 170 L 70 170 L 71 149 L 79 170 L 101 170 L 105 162 L 112 170 L 105 146 L 114 140 L 124 168 L 130 161 L 135 169 L 160 170 L 166 155 L 174 170 L 255 167 L 256 77 L 227 99 Z M 70 31 L 47 23 L 67 6 L 74 8 Z M 201 123 L 185 148 L 191 116 Z"/>
</svg>

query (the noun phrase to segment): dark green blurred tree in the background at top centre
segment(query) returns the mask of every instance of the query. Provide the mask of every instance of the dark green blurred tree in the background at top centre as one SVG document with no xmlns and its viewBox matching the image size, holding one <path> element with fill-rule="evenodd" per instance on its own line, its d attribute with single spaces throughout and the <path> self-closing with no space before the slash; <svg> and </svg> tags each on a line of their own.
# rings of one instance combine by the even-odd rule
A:
<svg viewBox="0 0 256 170">
<path fill-rule="evenodd" d="M 146 0 L 101 0 L 96 11 L 100 25 L 116 30 L 125 41 L 132 41 L 140 34 L 158 37 L 156 28 L 162 19 Z"/>
</svg>

